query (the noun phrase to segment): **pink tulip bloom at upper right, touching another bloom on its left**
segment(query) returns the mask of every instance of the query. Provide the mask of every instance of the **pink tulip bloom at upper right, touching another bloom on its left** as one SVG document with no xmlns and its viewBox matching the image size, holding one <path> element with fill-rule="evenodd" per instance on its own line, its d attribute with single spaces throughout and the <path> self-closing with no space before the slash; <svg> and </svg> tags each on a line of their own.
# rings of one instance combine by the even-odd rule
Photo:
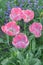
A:
<svg viewBox="0 0 43 65">
<path fill-rule="evenodd" d="M 22 18 L 24 22 L 28 23 L 34 18 L 34 12 L 32 10 L 22 10 Z"/>
</svg>

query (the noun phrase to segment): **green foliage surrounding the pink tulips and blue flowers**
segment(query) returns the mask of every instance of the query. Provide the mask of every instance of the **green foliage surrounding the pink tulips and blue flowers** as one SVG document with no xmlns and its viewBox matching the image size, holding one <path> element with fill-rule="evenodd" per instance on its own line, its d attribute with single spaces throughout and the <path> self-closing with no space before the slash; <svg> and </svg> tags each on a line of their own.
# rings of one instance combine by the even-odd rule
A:
<svg viewBox="0 0 43 65">
<path fill-rule="evenodd" d="M 21 26 L 21 32 L 25 33 L 29 40 L 30 45 L 26 49 L 17 49 L 12 46 L 12 37 L 5 35 L 1 31 L 1 26 L 5 23 L 4 11 L 7 11 L 6 3 L 12 0 L 0 0 L 0 65 L 43 65 L 43 31 L 40 38 L 35 38 L 29 31 L 28 26 L 36 21 L 39 21 L 43 25 L 43 9 L 34 9 L 34 0 L 32 7 L 29 7 L 27 0 L 23 3 L 23 9 L 32 9 L 35 12 L 34 19 L 25 24 L 23 21 L 19 21 L 17 24 Z M 13 0 L 15 6 L 20 6 L 22 2 Z M 43 6 L 43 0 L 38 0 L 39 6 Z M 13 4 L 10 4 L 11 8 Z M 23 24 L 22 24 L 23 23 Z M 9 41 L 10 40 L 10 41 Z M 10 45 L 9 45 L 10 43 Z"/>
</svg>

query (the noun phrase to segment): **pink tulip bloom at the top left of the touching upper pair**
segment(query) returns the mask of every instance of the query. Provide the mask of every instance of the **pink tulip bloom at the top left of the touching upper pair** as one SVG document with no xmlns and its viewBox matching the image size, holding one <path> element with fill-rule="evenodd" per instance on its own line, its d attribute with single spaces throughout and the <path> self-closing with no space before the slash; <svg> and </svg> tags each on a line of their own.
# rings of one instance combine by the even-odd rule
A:
<svg viewBox="0 0 43 65">
<path fill-rule="evenodd" d="M 10 18 L 14 21 L 21 20 L 22 19 L 21 14 L 22 14 L 21 8 L 12 8 Z"/>
</svg>

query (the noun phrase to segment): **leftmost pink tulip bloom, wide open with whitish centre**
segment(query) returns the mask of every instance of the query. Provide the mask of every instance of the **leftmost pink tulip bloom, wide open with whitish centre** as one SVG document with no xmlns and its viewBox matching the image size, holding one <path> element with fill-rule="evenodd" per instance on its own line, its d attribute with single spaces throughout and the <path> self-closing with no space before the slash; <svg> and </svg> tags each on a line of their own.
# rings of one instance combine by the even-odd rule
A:
<svg viewBox="0 0 43 65">
<path fill-rule="evenodd" d="M 1 27 L 2 31 L 9 36 L 15 36 L 20 32 L 20 26 L 15 21 L 8 22 Z"/>
</svg>

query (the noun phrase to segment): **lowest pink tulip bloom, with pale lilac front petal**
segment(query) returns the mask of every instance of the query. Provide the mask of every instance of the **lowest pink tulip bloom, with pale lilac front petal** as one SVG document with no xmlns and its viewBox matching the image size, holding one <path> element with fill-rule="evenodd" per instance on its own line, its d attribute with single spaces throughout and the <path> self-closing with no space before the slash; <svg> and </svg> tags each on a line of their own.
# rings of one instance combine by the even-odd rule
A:
<svg viewBox="0 0 43 65">
<path fill-rule="evenodd" d="M 29 41 L 25 34 L 20 33 L 13 38 L 12 44 L 16 48 L 26 48 L 29 44 Z"/>
</svg>

